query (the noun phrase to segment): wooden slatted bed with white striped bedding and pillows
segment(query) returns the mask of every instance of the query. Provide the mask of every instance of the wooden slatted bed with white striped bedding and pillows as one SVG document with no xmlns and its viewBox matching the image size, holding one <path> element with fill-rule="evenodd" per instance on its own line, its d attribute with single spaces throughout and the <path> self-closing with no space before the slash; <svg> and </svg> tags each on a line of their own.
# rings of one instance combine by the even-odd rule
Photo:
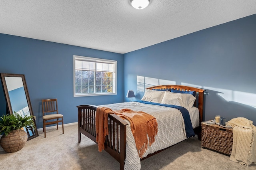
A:
<svg viewBox="0 0 256 170">
<path fill-rule="evenodd" d="M 175 93 L 175 94 L 174 94 Z M 182 107 L 188 111 L 190 119 L 188 120 L 189 125 L 192 126 L 194 134 L 198 135 L 198 139 L 201 140 L 201 124 L 203 120 L 204 110 L 204 90 L 188 87 L 182 85 L 160 85 L 153 86 L 145 89 L 145 95 L 140 101 L 132 101 L 125 103 L 116 103 L 110 105 L 103 105 L 112 110 L 119 110 L 124 108 L 131 108 L 135 111 L 142 109 L 142 111 L 149 113 L 156 117 L 158 122 L 158 134 L 156 135 L 156 142 L 152 146 L 148 147 L 148 150 L 140 158 L 134 152 L 134 138 L 131 136 L 130 124 L 127 120 L 123 120 L 115 114 L 108 115 L 108 129 L 109 134 L 106 137 L 104 143 L 106 152 L 113 156 L 120 163 L 120 170 L 122 169 L 140 169 L 140 160 L 144 160 L 162 150 L 165 150 L 172 145 L 185 140 L 191 136 L 188 136 L 185 119 L 182 117 L 183 113 L 179 108 L 169 108 L 166 105 L 174 105 L 176 99 L 169 100 L 170 97 L 178 95 L 188 97 L 189 100 L 194 96 L 193 101 L 189 101 L 189 106 L 185 106 L 182 103 Z M 154 94 L 154 95 L 152 95 Z M 156 97 L 156 94 L 159 97 Z M 177 94 L 177 95 L 176 95 Z M 161 103 L 162 102 L 162 103 Z M 160 103 L 160 104 L 159 104 Z M 191 105 L 192 103 L 192 105 Z M 179 105 L 179 104 L 177 104 Z M 81 134 L 84 134 L 94 142 L 96 142 L 96 109 L 99 106 L 95 105 L 80 105 L 78 107 L 78 142 L 81 142 Z M 179 107 L 179 106 L 178 106 Z M 183 108 L 183 109 L 184 109 Z M 166 112 L 173 112 L 172 114 L 166 114 Z M 161 113 L 163 112 L 163 113 Z M 182 113 L 182 114 L 180 114 Z M 166 115 L 163 115 L 166 114 Z M 172 116 L 169 121 L 169 116 Z M 181 117 L 181 118 L 180 118 Z M 166 121 L 168 120 L 168 121 Z M 182 121 L 180 121 L 182 120 Z M 165 124 L 167 122 L 167 124 Z M 163 123 L 163 124 L 162 124 Z M 179 125 L 178 125 L 179 124 Z M 187 126 L 187 127 L 186 127 Z M 175 127 L 175 128 L 174 128 Z M 178 130 L 177 130 L 178 128 Z M 170 130 L 173 129 L 173 130 Z M 193 136 L 193 135 L 192 135 Z M 97 143 L 97 142 L 96 142 Z M 137 153 L 138 154 L 138 153 Z"/>
</svg>

